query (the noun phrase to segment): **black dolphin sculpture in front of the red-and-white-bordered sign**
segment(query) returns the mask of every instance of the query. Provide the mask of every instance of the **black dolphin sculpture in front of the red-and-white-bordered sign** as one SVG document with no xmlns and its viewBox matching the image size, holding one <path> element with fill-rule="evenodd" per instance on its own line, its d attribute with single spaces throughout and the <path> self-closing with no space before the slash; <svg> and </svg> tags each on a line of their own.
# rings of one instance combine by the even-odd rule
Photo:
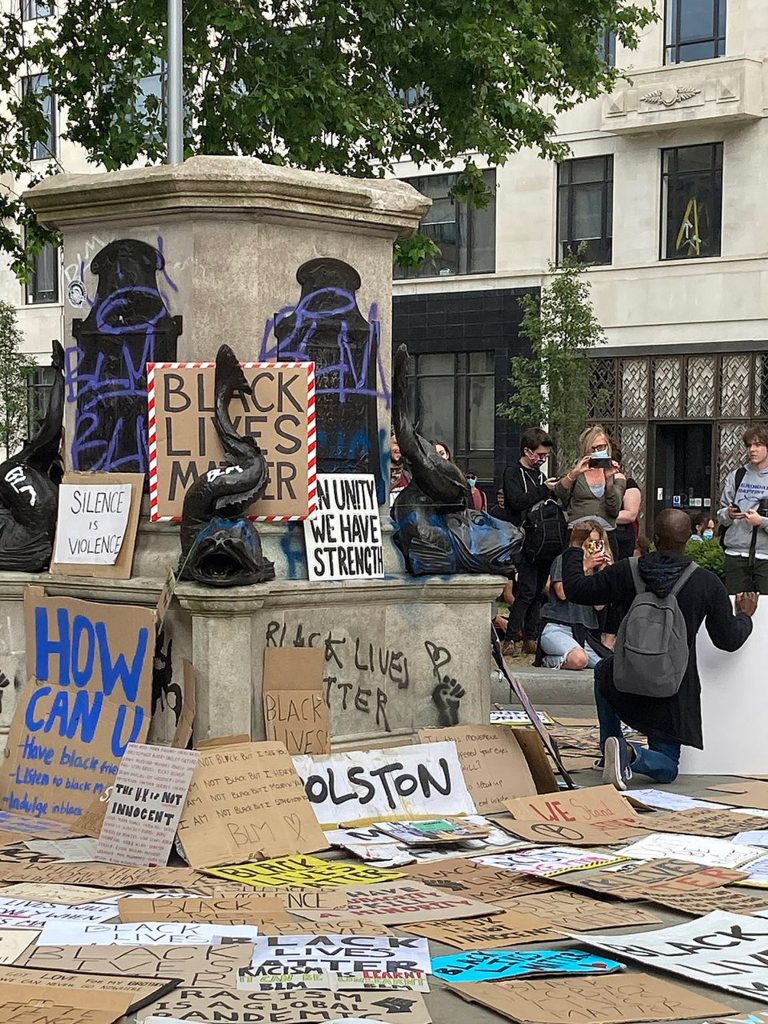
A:
<svg viewBox="0 0 768 1024">
<path fill-rule="evenodd" d="M 231 398 L 251 394 L 251 387 L 228 345 L 216 353 L 214 390 L 214 423 L 224 460 L 184 496 L 179 578 L 209 587 L 264 583 L 274 579 L 274 565 L 264 558 L 261 539 L 245 512 L 264 494 L 269 472 L 256 439 L 241 437 L 229 418 Z"/>
</svg>

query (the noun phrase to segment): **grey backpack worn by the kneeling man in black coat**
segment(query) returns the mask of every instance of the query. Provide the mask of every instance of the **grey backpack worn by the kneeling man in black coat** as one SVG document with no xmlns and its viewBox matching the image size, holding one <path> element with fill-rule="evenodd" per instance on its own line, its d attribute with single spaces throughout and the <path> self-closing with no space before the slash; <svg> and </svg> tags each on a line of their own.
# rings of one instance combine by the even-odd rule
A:
<svg viewBox="0 0 768 1024">
<path fill-rule="evenodd" d="M 688 631 L 677 595 L 698 567 L 691 562 L 667 597 L 649 591 L 637 558 L 630 559 L 637 595 L 618 627 L 613 648 L 613 685 L 622 693 L 671 697 L 688 668 Z"/>
</svg>

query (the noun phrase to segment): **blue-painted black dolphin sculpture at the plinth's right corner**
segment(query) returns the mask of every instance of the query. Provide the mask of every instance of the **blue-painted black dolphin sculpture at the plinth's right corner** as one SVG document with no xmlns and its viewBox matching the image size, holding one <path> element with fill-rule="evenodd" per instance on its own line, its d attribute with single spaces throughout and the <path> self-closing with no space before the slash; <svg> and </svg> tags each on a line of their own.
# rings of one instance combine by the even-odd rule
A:
<svg viewBox="0 0 768 1024">
<path fill-rule="evenodd" d="M 392 424 L 412 473 L 392 505 L 394 543 L 413 575 L 490 572 L 511 575 L 523 532 L 467 507 L 469 489 L 458 466 L 441 459 L 414 426 L 408 401 L 408 349 L 394 356 Z"/>
</svg>

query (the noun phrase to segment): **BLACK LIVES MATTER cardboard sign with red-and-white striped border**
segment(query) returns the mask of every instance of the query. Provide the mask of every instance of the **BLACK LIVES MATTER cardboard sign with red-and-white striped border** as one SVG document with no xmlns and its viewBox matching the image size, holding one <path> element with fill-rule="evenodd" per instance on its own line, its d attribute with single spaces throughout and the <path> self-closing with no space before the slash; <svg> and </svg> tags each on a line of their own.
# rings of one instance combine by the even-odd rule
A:
<svg viewBox="0 0 768 1024">
<path fill-rule="evenodd" d="M 314 508 L 314 364 L 243 362 L 251 395 L 232 398 L 234 429 L 254 437 L 269 467 L 257 519 L 301 519 Z M 150 362 L 150 518 L 181 517 L 187 488 L 221 471 L 223 450 L 214 425 L 213 362 Z"/>
</svg>

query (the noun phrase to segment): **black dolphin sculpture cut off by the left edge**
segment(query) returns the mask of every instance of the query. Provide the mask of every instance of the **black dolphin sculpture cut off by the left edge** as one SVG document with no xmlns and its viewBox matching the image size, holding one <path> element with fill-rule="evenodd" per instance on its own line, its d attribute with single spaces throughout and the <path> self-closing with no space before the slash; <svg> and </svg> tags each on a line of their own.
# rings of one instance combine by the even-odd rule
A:
<svg viewBox="0 0 768 1024">
<path fill-rule="evenodd" d="M 55 376 L 40 429 L 0 465 L 0 569 L 41 572 L 53 553 L 65 399 L 65 355 L 57 341 L 51 364 Z"/>
</svg>

